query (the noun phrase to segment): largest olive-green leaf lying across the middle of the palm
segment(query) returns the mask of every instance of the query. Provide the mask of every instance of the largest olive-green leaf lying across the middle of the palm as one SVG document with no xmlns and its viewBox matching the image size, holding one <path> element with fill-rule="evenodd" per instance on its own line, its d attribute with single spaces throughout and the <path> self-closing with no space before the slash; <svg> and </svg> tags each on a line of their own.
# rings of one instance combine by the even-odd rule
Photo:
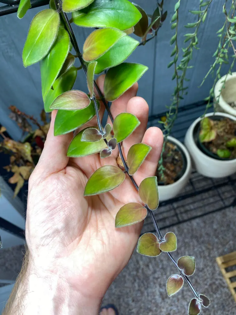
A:
<svg viewBox="0 0 236 315">
<path fill-rule="evenodd" d="M 118 187 L 125 179 L 125 173 L 113 165 L 105 165 L 97 169 L 87 181 L 84 196 L 98 195 Z"/>
</svg>

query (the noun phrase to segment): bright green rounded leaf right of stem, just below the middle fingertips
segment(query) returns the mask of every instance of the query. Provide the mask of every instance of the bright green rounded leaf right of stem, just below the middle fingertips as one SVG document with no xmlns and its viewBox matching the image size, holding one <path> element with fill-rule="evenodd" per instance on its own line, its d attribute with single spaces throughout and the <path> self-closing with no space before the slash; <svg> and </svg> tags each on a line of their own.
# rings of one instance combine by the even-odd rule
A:
<svg viewBox="0 0 236 315">
<path fill-rule="evenodd" d="M 113 122 L 114 137 L 117 143 L 126 139 L 140 125 L 140 121 L 131 113 L 120 113 Z"/>
</svg>

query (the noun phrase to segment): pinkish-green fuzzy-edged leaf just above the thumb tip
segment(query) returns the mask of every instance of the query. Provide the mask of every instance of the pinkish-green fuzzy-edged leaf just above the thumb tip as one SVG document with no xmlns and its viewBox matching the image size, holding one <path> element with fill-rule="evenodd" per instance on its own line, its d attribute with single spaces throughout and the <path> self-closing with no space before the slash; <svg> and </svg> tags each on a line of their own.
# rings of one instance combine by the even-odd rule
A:
<svg viewBox="0 0 236 315">
<path fill-rule="evenodd" d="M 91 100 L 87 94 L 72 90 L 59 95 L 50 106 L 51 109 L 76 110 L 83 109 L 90 104 Z"/>
</svg>

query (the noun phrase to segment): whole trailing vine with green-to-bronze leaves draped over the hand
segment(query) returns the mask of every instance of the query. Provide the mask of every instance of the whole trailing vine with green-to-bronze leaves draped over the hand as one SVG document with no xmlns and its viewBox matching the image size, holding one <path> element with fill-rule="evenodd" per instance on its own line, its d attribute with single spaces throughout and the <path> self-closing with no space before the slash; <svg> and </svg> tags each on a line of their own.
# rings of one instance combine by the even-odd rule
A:
<svg viewBox="0 0 236 315">
<path fill-rule="evenodd" d="M 178 1 L 179 3 L 180 1 Z M 116 228 L 122 228 L 145 219 L 148 212 L 155 226 L 156 234 L 145 233 L 138 240 L 138 253 L 156 257 L 161 252 L 171 259 L 177 274 L 170 276 L 166 283 L 169 296 L 177 293 L 184 280 L 193 291 L 194 298 L 189 304 L 189 315 L 199 314 L 201 307 L 209 306 L 209 299 L 198 294 L 189 280 L 195 271 L 192 256 L 180 257 L 177 261 L 171 252 L 177 249 L 177 238 L 172 232 L 163 237 L 153 211 L 158 208 L 158 186 L 156 176 L 143 179 L 140 186 L 133 178 L 151 147 L 142 143 L 131 146 L 127 158 L 123 156 L 121 142 L 140 124 L 138 118 L 130 113 L 120 113 L 114 119 L 109 103 L 120 97 L 148 70 L 137 63 L 123 62 L 138 45 L 147 42 L 147 35 L 156 35 L 166 18 L 162 14 L 163 1 L 151 17 L 128 0 L 50 0 L 50 8 L 33 18 L 22 53 L 25 67 L 40 62 L 42 78 L 42 98 L 46 112 L 57 109 L 54 135 L 63 135 L 83 126 L 95 115 L 97 126 L 81 130 L 74 136 L 68 148 L 69 157 L 82 157 L 100 154 L 101 158 L 110 156 L 118 146 L 123 169 L 118 165 L 105 165 L 97 169 L 87 181 L 84 196 L 108 192 L 122 184 L 129 176 L 137 189 L 142 203 L 128 203 L 117 213 Z M 30 8 L 30 0 L 21 0 L 18 17 L 22 18 Z M 178 9 L 176 5 L 175 11 Z M 72 12 L 69 20 L 67 12 Z M 80 52 L 73 33 L 71 22 L 77 26 L 93 27 L 95 30 L 87 37 Z M 134 31 L 142 38 L 141 43 L 128 34 Z M 75 54 L 70 51 L 74 49 Z M 81 66 L 74 66 L 76 58 Z M 87 78 L 88 92 L 72 90 L 77 71 L 83 69 Z M 104 95 L 99 90 L 94 76 L 107 70 L 104 80 Z M 95 96 L 97 90 L 98 98 Z M 111 124 L 104 128 L 99 117 L 99 102 L 103 102 Z M 127 160 L 127 162 L 126 162 Z"/>
</svg>

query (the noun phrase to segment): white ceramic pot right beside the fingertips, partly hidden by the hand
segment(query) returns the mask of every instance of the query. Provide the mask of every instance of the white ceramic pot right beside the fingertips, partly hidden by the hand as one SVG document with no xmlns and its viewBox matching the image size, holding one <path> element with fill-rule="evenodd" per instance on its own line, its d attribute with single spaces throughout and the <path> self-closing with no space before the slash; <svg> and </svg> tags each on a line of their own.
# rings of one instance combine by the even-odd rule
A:
<svg viewBox="0 0 236 315">
<path fill-rule="evenodd" d="M 175 143 L 178 147 L 181 148 L 187 160 L 187 167 L 183 176 L 179 180 L 174 182 L 173 184 L 158 186 L 160 201 L 165 201 L 165 200 L 168 200 L 177 196 L 183 190 L 183 188 L 187 185 L 189 177 L 191 175 L 191 171 L 192 171 L 191 158 L 185 146 L 179 140 L 171 136 L 168 136 L 167 139 L 171 140 L 173 143 Z"/>
</svg>

